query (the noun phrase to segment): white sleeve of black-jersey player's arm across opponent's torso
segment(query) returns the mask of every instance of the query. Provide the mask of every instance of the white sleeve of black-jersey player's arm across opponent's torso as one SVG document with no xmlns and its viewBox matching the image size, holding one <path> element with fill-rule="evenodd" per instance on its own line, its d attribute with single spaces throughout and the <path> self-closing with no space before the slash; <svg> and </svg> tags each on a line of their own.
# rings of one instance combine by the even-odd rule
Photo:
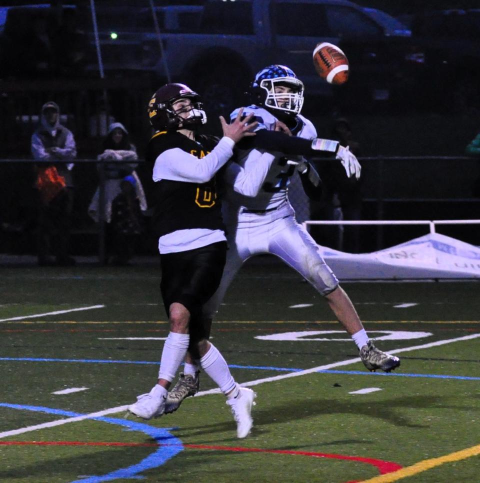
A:
<svg viewBox="0 0 480 483">
<path fill-rule="evenodd" d="M 256 196 L 275 159 L 269 152 L 254 149 L 248 155 L 244 167 L 231 162 L 225 169 L 224 180 L 237 193 L 245 196 Z"/>
</svg>

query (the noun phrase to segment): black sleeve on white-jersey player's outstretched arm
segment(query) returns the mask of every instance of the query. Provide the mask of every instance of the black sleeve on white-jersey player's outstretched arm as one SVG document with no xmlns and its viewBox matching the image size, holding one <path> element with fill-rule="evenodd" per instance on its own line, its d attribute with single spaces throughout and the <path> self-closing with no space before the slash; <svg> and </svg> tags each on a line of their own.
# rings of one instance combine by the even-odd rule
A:
<svg viewBox="0 0 480 483">
<path fill-rule="evenodd" d="M 311 148 L 311 139 L 289 136 L 280 131 L 269 131 L 259 129 L 256 136 L 245 137 L 239 143 L 241 149 L 257 148 L 281 152 L 283 154 L 301 154 L 304 156 L 320 156 L 323 154 L 332 155 L 333 152 L 325 152 Z"/>
</svg>

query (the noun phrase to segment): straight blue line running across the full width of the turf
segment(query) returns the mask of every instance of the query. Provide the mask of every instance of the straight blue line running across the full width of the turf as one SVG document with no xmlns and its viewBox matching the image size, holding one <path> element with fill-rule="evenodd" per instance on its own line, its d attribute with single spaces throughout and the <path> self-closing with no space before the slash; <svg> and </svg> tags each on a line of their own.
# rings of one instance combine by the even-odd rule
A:
<svg viewBox="0 0 480 483">
<path fill-rule="evenodd" d="M 80 363 L 97 363 L 97 364 L 147 364 L 158 365 L 159 361 L 150 360 L 111 360 L 111 359 L 56 359 L 43 357 L 0 357 L 1 360 L 16 360 L 27 362 L 80 362 Z M 298 367 L 275 367 L 271 365 L 238 365 L 228 364 L 232 369 L 249 369 L 249 370 L 276 370 L 279 372 L 300 372 L 304 369 Z M 462 380 L 480 380 L 480 377 L 470 377 L 464 375 L 446 375 L 446 374 L 412 374 L 406 372 L 366 372 L 364 370 L 334 370 L 320 369 L 317 372 L 330 374 L 351 374 L 351 375 L 394 375 L 401 377 L 429 377 L 432 379 L 462 379 Z"/>
</svg>

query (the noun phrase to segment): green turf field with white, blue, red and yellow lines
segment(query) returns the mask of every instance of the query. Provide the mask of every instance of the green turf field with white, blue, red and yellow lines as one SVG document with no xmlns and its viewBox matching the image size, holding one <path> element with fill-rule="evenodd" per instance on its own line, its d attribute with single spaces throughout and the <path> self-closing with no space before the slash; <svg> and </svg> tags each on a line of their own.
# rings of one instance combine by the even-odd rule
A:
<svg viewBox="0 0 480 483">
<path fill-rule="evenodd" d="M 393 373 L 370 373 L 323 299 L 260 258 L 212 341 L 257 393 L 245 439 L 224 396 L 150 421 L 168 327 L 152 266 L 2 268 L 0 481 L 480 481 L 480 285 L 345 283 Z M 58 391 L 66 393 L 57 393 Z"/>
</svg>

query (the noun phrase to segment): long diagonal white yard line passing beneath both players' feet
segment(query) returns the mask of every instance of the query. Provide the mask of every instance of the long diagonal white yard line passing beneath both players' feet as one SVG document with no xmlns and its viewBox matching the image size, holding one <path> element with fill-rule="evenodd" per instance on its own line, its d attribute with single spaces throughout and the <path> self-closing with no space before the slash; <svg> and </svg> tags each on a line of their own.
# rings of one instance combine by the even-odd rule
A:
<svg viewBox="0 0 480 483">
<path fill-rule="evenodd" d="M 453 339 L 444 339 L 444 340 L 437 340 L 436 342 L 429 342 L 426 344 L 421 344 L 421 345 L 412 345 L 410 347 L 403 347 L 401 349 L 394 349 L 390 350 L 390 354 L 397 354 L 400 352 L 408 352 L 410 350 L 418 350 L 418 349 L 426 349 L 429 347 L 435 347 L 437 345 L 445 345 L 449 344 L 452 342 L 459 342 L 462 340 L 471 340 L 480 337 L 480 333 L 475 333 L 471 335 L 465 335 L 463 337 L 455 337 Z M 305 375 L 305 374 L 311 374 L 312 372 L 317 372 L 319 370 L 325 370 L 325 369 L 331 369 L 333 367 L 339 367 L 342 365 L 348 365 L 348 364 L 353 364 L 355 362 L 360 362 L 360 357 L 355 357 L 353 359 L 346 359 L 346 360 L 340 360 L 339 362 L 332 362 L 331 364 L 325 364 L 325 365 L 319 365 L 317 367 L 312 367 L 311 369 L 305 369 L 305 370 L 300 370 L 297 372 L 289 372 L 287 374 L 281 374 L 281 375 L 276 375 L 273 377 L 265 377 L 263 379 L 256 379 L 248 382 L 243 382 L 240 384 L 241 386 L 253 386 L 253 385 L 258 385 L 262 384 L 263 382 L 271 382 L 274 380 L 280 380 L 280 379 L 286 379 L 288 377 L 297 377 L 299 375 Z M 220 392 L 220 389 L 217 387 L 216 389 L 210 389 L 206 391 L 200 391 L 195 394 L 195 397 L 198 396 L 203 396 L 205 394 L 214 394 Z M 103 409 L 102 411 L 98 412 L 92 412 L 90 414 L 84 414 L 83 416 L 75 416 L 75 417 L 69 417 L 65 419 L 57 419 L 56 421 L 50 421 L 50 422 L 44 422 L 42 424 L 35 424 L 34 426 L 27 426 L 27 427 L 20 427 L 18 429 L 12 429 L 10 431 L 3 431 L 0 432 L 0 438 L 4 438 L 7 436 L 15 436 L 16 434 L 22 434 L 25 432 L 29 431 L 34 431 L 36 429 L 43 429 L 45 427 L 54 427 L 58 426 L 60 424 L 66 424 L 68 422 L 77 422 L 77 421 L 83 421 L 84 419 L 92 419 L 94 417 L 99 417 L 99 416 L 104 416 L 106 414 L 113 414 L 115 412 L 121 412 L 125 411 L 126 408 L 128 407 L 127 404 L 123 406 L 117 406 L 117 407 L 111 407 L 109 409 Z"/>
</svg>

